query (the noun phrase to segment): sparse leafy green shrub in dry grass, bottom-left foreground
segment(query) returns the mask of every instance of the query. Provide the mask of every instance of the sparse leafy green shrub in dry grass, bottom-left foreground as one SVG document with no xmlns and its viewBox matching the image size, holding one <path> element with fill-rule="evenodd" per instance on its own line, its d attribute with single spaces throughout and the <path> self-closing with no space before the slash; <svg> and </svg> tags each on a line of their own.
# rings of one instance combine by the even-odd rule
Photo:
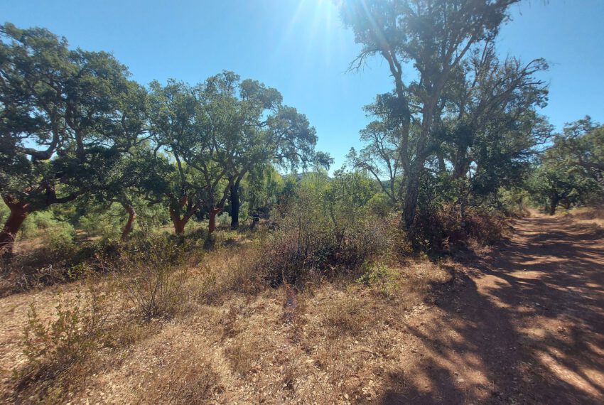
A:
<svg viewBox="0 0 604 405">
<path fill-rule="evenodd" d="M 90 360 L 108 342 L 114 295 L 89 284 L 75 296 L 60 296 L 47 320 L 32 303 L 23 329 L 26 362 L 15 369 L 14 401 L 57 403 L 90 374 Z"/>
</svg>

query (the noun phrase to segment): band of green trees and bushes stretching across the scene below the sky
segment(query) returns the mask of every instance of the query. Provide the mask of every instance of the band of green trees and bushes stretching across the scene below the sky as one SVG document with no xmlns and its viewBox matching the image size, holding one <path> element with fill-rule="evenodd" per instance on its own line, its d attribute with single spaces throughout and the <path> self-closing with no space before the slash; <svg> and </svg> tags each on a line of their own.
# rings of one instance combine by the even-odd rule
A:
<svg viewBox="0 0 604 405">
<path fill-rule="evenodd" d="M 424 251 L 495 240 L 499 213 L 522 210 L 522 183 L 550 212 L 604 190 L 604 131 L 589 117 L 566 126 L 536 158 L 551 137 L 536 112 L 546 104 L 546 85 L 536 77 L 547 64 L 495 51 L 516 2 L 340 2 L 362 46 L 352 67 L 384 58 L 394 89 L 365 107 L 372 121 L 361 131 L 364 146 L 348 155 L 352 171 L 331 178 L 324 168 L 332 159 L 315 150 L 316 130 L 274 88 L 230 71 L 196 85 L 168 80 L 145 88 L 108 53 L 5 23 L 2 197 L 28 215 L 21 237 L 56 252 L 70 251 L 76 234 L 125 240 L 134 229 L 132 237 L 153 239 L 169 222 L 184 234 L 200 227 L 191 218 L 203 222 L 217 212 L 221 227 L 228 213 L 237 229 L 240 211 L 242 220 L 254 215 L 279 226 L 283 240 L 274 242 L 295 251 L 284 257 L 320 272 L 383 254 L 387 243 L 397 245 L 399 227 Z M 403 66 L 416 75 L 403 75 Z M 303 175 L 278 171 L 298 168 Z M 393 210 L 402 210 L 401 224 Z M 2 207 L 0 220 L 7 217 Z M 386 223 L 389 234 L 378 229 Z M 10 249 L 15 234 L 0 234 L 0 250 Z M 190 246 L 217 240 L 197 230 L 187 237 L 200 236 Z M 130 260 L 142 266 L 142 258 Z M 153 311 L 164 310 L 144 316 Z"/>
</svg>

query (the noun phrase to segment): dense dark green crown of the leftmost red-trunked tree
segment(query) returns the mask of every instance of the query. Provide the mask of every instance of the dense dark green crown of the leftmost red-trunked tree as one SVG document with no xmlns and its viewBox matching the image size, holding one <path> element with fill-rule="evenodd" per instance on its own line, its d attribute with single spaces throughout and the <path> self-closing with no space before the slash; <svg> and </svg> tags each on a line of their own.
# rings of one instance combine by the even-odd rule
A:
<svg viewBox="0 0 604 405">
<path fill-rule="evenodd" d="M 43 28 L 0 26 L 2 196 L 36 211 L 102 188 L 136 142 L 141 87 L 112 55 Z"/>
</svg>

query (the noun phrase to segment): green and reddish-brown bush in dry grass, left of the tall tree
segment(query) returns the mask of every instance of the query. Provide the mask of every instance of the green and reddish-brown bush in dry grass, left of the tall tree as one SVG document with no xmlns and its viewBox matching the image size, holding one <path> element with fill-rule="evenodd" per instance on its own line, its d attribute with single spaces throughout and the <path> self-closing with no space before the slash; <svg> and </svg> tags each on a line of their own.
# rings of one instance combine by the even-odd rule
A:
<svg viewBox="0 0 604 405">
<path fill-rule="evenodd" d="M 362 173 L 308 173 L 291 205 L 267 235 L 254 271 L 271 285 L 303 285 L 309 277 L 355 273 L 365 261 L 397 261 L 408 253 L 392 217 L 368 209 L 375 185 Z"/>
</svg>

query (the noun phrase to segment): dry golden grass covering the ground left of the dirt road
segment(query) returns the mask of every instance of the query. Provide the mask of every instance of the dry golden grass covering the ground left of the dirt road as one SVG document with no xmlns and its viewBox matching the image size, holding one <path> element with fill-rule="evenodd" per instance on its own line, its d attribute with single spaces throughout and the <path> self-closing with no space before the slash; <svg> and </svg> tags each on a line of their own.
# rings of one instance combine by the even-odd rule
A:
<svg viewBox="0 0 604 405">
<path fill-rule="evenodd" d="M 184 270 L 184 299 L 172 318 L 143 322 L 136 306 L 116 300 L 98 350 L 70 373 L 33 381 L 27 391 L 19 391 L 11 374 L 23 367 L 23 306 L 36 301 L 46 322 L 54 319 L 57 299 L 52 288 L 1 298 L 2 397 L 24 403 L 53 392 L 48 398 L 72 403 L 370 401 L 408 349 L 406 323 L 429 308 L 431 286 L 448 281 L 441 266 L 414 261 L 376 267 L 366 279 L 308 282 L 286 304 L 290 287 L 270 288 L 250 271 L 257 252 L 249 244 L 199 257 L 200 265 Z"/>
</svg>

